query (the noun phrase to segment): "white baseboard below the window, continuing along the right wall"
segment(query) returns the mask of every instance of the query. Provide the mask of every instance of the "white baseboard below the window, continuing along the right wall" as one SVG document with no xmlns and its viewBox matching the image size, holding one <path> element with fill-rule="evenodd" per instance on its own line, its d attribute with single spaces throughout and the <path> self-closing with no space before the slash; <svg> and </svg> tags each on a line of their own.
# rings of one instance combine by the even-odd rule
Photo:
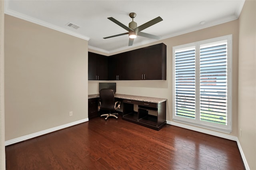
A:
<svg viewBox="0 0 256 170">
<path fill-rule="evenodd" d="M 177 126 L 177 127 L 182 127 L 182 128 L 194 130 L 194 131 L 197 131 L 197 132 L 202 132 L 202 133 L 205 133 L 205 134 L 210 134 L 210 135 L 213 135 L 213 136 L 218 136 L 218 137 L 221 137 L 221 138 L 236 141 L 236 143 L 238 145 L 238 148 L 239 148 L 239 151 L 240 151 L 240 154 L 241 154 L 241 157 L 242 157 L 242 160 L 244 162 L 244 166 L 245 166 L 246 170 L 250 170 L 249 165 L 248 165 L 248 163 L 246 161 L 246 158 L 244 156 L 244 152 L 243 152 L 242 147 L 240 145 L 240 142 L 239 142 L 239 140 L 236 136 L 231 136 L 231 135 L 223 134 L 223 133 L 219 133 L 219 132 L 213 132 L 211 130 L 206 130 L 206 129 L 202 129 L 202 128 L 198 128 L 198 127 L 193 127 L 193 126 L 190 126 L 190 125 L 184 125 L 182 123 L 177 123 L 177 122 L 173 122 L 173 121 L 166 121 L 166 123 L 168 125 L 174 125 L 174 126 Z"/>
</svg>

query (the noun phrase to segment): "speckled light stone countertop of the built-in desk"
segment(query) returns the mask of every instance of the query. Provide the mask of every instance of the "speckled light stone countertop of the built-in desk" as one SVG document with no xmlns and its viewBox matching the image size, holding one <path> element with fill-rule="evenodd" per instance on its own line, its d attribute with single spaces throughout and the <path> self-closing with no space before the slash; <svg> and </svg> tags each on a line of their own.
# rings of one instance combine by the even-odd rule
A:
<svg viewBox="0 0 256 170">
<path fill-rule="evenodd" d="M 88 99 L 97 98 L 97 97 L 100 97 L 100 94 L 88 95 Z M 167 101 L 167 99 L 161 99 L 161 98 L 155 98 L 155 97 L 144 97 L 144 96 L 122 95 L 122 94 L 115 94 L 115 97 L 120 99 L 145 101 L 150 103 L 162 103 L 164 101 Z"/>
</svg>

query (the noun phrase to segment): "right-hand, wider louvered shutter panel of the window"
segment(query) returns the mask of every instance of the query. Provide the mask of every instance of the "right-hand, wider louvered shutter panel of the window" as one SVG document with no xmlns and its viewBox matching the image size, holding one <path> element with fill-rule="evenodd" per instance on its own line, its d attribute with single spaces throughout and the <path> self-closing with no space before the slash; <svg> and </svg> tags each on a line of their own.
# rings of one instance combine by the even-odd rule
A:
<svg viewBox="0 0 256 170">
<path fill-rule="evenodd" d="M 200 120 L 227 123 L 227 41 L 200 45 Z"/>
</svg>

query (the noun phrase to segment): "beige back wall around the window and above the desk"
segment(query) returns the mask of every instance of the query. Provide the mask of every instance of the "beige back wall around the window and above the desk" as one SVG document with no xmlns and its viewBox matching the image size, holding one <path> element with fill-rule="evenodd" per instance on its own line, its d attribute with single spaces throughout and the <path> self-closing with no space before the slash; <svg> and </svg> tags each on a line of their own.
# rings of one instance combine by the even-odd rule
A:
<svg viewBox="0 0 256 170">
<path fill-rule="evenodd" d="M 233 81 L 232 81 L 232 122 L 233 130 L 230 133 L 232 136 L 237 136 L 238 134 L 238 113 L 237 113 L 237 103 L 238 103 L 238 20 L 228 22 L 225 24 L 220 24 L 210 28 L 205 28 L 203 30 L 198 30 L 188 34 L 183 34 L 173 38 L 168 38 L 158 42 L 146 44 L 140 47 L 156 44 L 156 43 L 165 43 L 167 46 L 167 80 L 159 81 L 150 81 L 150 80 L 141 80 L 141 81 L 111 81 L 116 82 L 116 91 L 120 94 L 129 94 L 129 95 L 139 95 L 139 96 L 148 96 L 148 97 L 158 97 L 168 99 L 167 101 L 167 110 L 166 110 L 166 119 L 172 121 L 172 47 L 176 45 L 182 45 L 186 43 L 197 42 L 201 40 L 207 40 L 210 38 L 216 38 L 220 36 L 226 36 L 232 34 L 233 39 Z M 139 48 L 139 47 L 135 47 Z M 132 48 L 132 49 L 135 49 Z M 89 49 L 90 51 L 90 49 Z M 123 52 L 123 51 L 120 51 Z M 88 81 L 88 94 L 98 93 L 98 82 L 101 81 Z"/>
</svg>

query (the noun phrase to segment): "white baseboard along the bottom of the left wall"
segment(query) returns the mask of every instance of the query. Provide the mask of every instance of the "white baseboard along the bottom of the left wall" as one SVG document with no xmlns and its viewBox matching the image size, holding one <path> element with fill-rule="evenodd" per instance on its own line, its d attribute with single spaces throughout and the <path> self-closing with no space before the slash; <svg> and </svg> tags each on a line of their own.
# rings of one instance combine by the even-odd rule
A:
<svg viewBox="0 0 256 170">
<path fill-rule="evenodd" d="M 46 130 L 42 130 L 40 132 L 28 134 L 28 135 L 21 136 L 21 137 L 18 137 L 18 138 L 14 138 L 14 139 L 11 139 L 11 140 L 7 140 L 7 141 L 5 141 L 5 146 L 8 146 L 10 144 L 14 144 L 14 143 L 17 143 L 17 142 L 22 142 L 24 140 L 28 140 L 28 139 L 31 139 L 31 138 L 34 138 L 34 137 L 37 137 L 37 136 L 41 136 L 43 134 L 47 134 L 47 133 L 50 133 L 50 132 L 54 132 L 56 130 L 71 127 L 71 126 L 74 126 L 74 125 L 78 125 L 80 123 L 84 123 L 84 122 L 87 122 L 87 121 L 89 121 L 88 118 L 82 119 L 82 120 L 79 120 L 79 121 L 75 121 L 75 122 L 72 122 L 72 123 L 68 123 L 68 124 L 65 124 L 65 125 L 60 125 L 58 127 L 49 128 L 49 129 L 46 129 Z"/>
</svg>

